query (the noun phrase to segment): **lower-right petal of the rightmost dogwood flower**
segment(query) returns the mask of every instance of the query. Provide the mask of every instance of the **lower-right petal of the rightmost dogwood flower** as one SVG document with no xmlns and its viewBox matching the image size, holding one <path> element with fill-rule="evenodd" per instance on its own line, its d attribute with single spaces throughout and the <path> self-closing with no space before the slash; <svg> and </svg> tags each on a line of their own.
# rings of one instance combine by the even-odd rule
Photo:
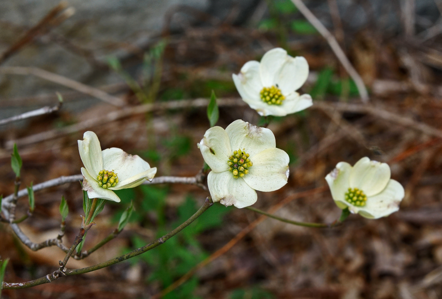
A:
<svg viewBox="0 0 442 299">
<path fill-rule="evenodd" d="M 389 180 L 381 193 L 367 198 L 366 206 L 359 207 L 359 214 L 371 219 L 388 216 L 399 210 L 404 198 L 404 187 L 396 180 Z"/>
</svg>

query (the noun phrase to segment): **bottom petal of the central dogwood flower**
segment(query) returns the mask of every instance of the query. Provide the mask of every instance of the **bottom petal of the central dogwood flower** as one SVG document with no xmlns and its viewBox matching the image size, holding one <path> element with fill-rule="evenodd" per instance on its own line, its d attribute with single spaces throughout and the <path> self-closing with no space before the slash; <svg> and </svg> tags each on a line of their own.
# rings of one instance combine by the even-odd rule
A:
<svg viewBox="0 0 442 299">
<path fill-rule="evenodd" d="M 230 171 L 215 173 L 211 171 L 207 176 L 210 196 L 213 202 L 219 201 L 226 207 L 234 205 L 237 208 L 251 206 L 258 196 L 242 178 L 234 179 Z"/>
</svg>

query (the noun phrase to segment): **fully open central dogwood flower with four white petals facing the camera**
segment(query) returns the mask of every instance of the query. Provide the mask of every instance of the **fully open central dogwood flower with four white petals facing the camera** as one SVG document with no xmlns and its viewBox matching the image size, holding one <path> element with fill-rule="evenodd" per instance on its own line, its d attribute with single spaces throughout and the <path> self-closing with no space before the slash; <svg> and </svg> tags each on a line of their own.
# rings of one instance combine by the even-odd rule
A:
<svg viewBox="0 0 442 299">
<path fill-rule="evenodd" d="M 198 143 L 212 171 L 207 176 L 214 202 L 242 208 L 256 202 L 256 191 L 274 191 L 287 183 L 289 156 L 276 148 L 271 130 L 240 119 L 224 130 L 214 126 Z"/>
</svg>

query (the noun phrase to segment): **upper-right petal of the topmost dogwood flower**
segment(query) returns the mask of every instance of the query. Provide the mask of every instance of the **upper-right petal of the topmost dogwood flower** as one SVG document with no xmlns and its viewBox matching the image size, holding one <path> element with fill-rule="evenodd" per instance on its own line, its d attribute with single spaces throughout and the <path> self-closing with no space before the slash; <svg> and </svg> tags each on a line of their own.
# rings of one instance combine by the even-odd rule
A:
<svg viewBox="0 0 442 299">
<path fill-rule="evenodd" d="M 309 64 L 304 57 L 287 56 L 286 62 L 282 65 L 281 70 L 275 80 L 283 95 L 288 95 L 298 90 L 307 80 L 309 76 Z"/>
</svg>

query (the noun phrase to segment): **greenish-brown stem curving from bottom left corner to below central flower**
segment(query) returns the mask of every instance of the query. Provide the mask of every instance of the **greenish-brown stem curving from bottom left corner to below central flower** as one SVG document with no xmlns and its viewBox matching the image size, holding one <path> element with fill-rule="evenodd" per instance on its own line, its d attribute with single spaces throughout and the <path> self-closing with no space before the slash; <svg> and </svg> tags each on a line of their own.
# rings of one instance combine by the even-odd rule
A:
<svg viewBox="0 0 442 299">
<path fill-rule="evenodd" d="M 86 268 L 81 269 L 75 269 L 75 270 L 65 270 L 61 272 L 60 270 L 56 270 L 46 276 L 40 277 L 36 280 L 23 282 L 23 283 L 7 283 L 3 282 L 2 289 L 21 289 L 21 288 L 30 288 L 34 287 L 36 285 L 40 284 L 46 284 L 48 282 L 54 281 L 59 279 L 61 276 L 70 276 L 70 275 L 77 275 L 77 274 L 83 274 L 87 272 L 92 272 L 101 268 L 108 267 L 110 265 L 117 264 L 121 261 L 126 261 L 127 259 L 130 259 L 132 257 L 135 257 L 137 255 L 140 255 L 141 253 L 145 253 L 153 248 L 155 248 L 158 245 L 163 244 L 171 237 L 175 236 L 175 234 L 178 234 L 181 230 L 183 230 L 185 227 L 189 226 L 192 222 L 194 222 L 195 219 L 197 219 L 199 216 L 202 215 L 207 209 L 209 209 L 213 205 L 212 199 L 210 197 L 206 198 L 206 201 L 202 205 L 202 207 L 199 208 L 198 211 L 195 212 L 194 215 L 192 215 L 189 219 L 187 219 L 185 222 L 183 222 L 180 226 L 175 228 L 175 230 L 172 230 L 170 233 L 165 234 L 163 237 L 156 239 L 155 241 L 140 247 L 138 249 L 135 249 L 131 251 L 130 253 L 123 254 L 122 256 L 115 257 L 109 261 L 105 261 L 103 263 L 93 265 Z"/>
</svg>

